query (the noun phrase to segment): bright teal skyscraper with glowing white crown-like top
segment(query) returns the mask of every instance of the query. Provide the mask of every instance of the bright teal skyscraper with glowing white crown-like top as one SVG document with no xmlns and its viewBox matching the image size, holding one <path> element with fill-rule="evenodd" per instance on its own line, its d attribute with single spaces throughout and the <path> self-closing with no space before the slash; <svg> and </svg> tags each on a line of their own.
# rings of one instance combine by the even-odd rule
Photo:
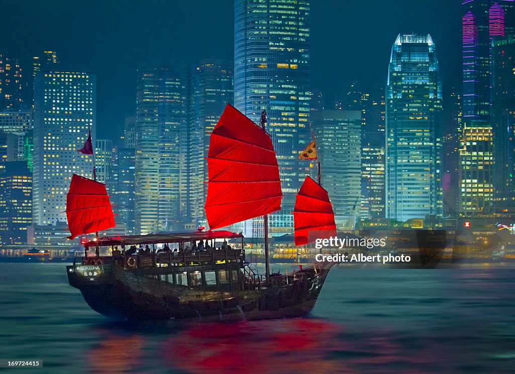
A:
<svg viewBox="0 0 515 374">
<path fill-rule="evenodd" d="M 431 35 L 399 34 L 386 87 L 387 217 L 442 215 L 442 87 Z"/>
</svg>

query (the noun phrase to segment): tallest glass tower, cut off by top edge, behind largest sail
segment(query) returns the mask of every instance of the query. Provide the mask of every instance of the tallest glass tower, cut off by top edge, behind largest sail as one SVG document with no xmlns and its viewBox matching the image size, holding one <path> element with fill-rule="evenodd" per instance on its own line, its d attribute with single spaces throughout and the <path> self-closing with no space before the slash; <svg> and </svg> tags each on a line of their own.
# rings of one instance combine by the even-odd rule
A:
<svg viewBox="0 0 515 374">
<path fill-rule="evenodd" d="M 309 164 L 310 0 L 235 0 L 234 105 L 256 123 L 267 110 L 290 215 Z M 271 223 L 271 225 L 281 225 Z"/>
</svg>

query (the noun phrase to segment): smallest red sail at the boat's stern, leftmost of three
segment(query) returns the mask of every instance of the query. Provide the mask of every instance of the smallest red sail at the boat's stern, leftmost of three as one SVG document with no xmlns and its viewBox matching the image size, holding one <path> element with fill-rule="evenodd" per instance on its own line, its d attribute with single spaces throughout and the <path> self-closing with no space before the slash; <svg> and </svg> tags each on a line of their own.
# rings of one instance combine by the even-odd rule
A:
<svg viewBox="0 0 515 374">
<path fill-rule="evenodd" d="M 115 227 L 106 185 L 74 174 L 66 197 L 70 239 Z"/>
</svg>

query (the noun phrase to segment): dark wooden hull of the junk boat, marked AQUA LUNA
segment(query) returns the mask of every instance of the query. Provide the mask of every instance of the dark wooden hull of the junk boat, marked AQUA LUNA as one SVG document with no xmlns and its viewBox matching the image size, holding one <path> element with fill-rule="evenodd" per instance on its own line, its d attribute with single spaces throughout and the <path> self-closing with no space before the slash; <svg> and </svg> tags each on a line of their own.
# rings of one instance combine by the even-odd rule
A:
<svg viewBox="0 0 515 374">
<path fill-rule="evenodd" d="M 81 269 L 91 276 L 84 276 Z M 178 286 L 161 281 L 161 275 L 111 265 L 67 267 L 70 285 L 80 290 L 88 305 L 117 320 L 234 321 L 299 317 L 315 306 L 329 271 L 330 268 L 316 271 L 311 268 L 295 276 L 290 274 L 289 279 L 271 278 L 267 286 L 247 287 L 243 282 L 221 289 Z"/>
</svg>

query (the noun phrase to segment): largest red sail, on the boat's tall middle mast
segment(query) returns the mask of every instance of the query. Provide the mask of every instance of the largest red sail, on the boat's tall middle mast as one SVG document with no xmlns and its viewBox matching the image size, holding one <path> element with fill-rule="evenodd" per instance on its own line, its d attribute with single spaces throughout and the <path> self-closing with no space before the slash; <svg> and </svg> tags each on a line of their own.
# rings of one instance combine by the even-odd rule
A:
<svg viewBox="0 0 515 374">
<path fill-rule="evenodd" d="M 281 180 L 270 136 L 231 105 L 211 134 L 208 154 L 211 230 L 281 209 Z"/>
</svg>

